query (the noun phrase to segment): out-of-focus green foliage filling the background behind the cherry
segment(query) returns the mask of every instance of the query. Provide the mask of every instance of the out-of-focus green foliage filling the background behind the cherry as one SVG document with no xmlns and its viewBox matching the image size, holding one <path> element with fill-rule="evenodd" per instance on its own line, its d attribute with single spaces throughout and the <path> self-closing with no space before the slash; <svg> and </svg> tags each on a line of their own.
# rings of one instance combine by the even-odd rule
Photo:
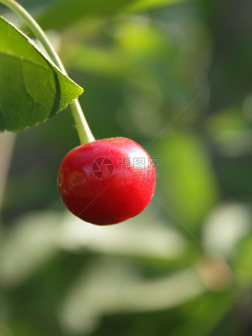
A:
<svg viewBox="0 0 252 336">
<path fill-rule="evenodd" d="M 160 170 L 142 214 L 97 227 L 57 191 L 62 157 L 79 145 L 69 110 L 17 134 L 0 335 L 251 335 L 251 3 L 20 3 L 84 88 L 95 137 L 132 138 Z"/>
</svg>

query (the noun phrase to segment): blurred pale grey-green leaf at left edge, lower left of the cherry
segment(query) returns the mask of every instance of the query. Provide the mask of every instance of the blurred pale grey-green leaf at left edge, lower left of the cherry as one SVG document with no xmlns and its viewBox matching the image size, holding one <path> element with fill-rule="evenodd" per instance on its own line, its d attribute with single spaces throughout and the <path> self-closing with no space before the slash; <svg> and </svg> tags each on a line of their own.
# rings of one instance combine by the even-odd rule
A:
<svg viewBox="0 0 252 336">
<path fill-rule="evenodd" d="M 60 232 L 60 219 L 60 213 L 53 211 L 28 213 L 2 235 L 1 286 L 16 286 L 55 256 L 55 247 L 48 244 Z"/>
</svg>

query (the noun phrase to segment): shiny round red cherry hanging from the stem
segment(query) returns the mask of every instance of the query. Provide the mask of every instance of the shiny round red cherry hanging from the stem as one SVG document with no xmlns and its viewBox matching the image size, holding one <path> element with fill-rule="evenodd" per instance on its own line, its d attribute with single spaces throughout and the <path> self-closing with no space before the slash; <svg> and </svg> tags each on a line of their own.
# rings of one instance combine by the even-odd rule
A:
<svg viewBox="0 0 252 336">
<path fill-rule="evenodd" d="M 156 174 L 133 140 L 95 140 L 72 149 L 58 171 L 62 202 L 82 220 L 108 225 L 138 215 L 150 203 Z"/>
</svg>

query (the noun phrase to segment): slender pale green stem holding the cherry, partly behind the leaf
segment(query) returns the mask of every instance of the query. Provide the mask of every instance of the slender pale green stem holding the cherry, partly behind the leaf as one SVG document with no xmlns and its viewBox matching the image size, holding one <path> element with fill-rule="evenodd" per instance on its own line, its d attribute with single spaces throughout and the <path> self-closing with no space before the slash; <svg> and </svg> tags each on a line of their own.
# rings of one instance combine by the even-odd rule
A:
<svg viewBox="0 0 252 336">
<path fill-rule="evenodd" d="M 17 3 L 14 0 L 0 0 L 0 2 L 6 5 L 7 7 L 9 7 L 10 9 L 12 9 L 26 22 L 26 24 L 30 27 L 34 35 L 38 38 L 42 46 L 45 48 L 49 57 L 53 60 L 54 64 L 61 70 L 61 72 L 64 75 L 67 76 L 67 72 L 59 56 L 53 49 L 51 43 L 49 42 L 42 28 L 37 24 L 34 18 L 25 10 L 25 8 L 19 5 L 19 3 Z M 69 106 L 74 116 L 74 121 L 77 127 L 77 131 L 78 131 L 81 144 L 94 141 L 95 139 L 84 117 L 84 114 L 83 114 L 83 111 L 81 109 L 78 99 L 74 99 L 74 101 L 71 104 L 69 104 Z"/>
</svg>

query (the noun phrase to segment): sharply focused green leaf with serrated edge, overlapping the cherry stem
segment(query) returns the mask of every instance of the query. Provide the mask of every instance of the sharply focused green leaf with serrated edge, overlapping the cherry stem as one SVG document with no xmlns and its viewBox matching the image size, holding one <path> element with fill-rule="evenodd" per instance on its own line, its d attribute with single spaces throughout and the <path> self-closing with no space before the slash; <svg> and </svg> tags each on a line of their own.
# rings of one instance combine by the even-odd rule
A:
<svg viewBox="0 0 252 336">
<path fill-rule="evenodd" d="M 44 122 L 82 92 L 32 40 L 0 16 L 0 131 Z"/>
</svg>

